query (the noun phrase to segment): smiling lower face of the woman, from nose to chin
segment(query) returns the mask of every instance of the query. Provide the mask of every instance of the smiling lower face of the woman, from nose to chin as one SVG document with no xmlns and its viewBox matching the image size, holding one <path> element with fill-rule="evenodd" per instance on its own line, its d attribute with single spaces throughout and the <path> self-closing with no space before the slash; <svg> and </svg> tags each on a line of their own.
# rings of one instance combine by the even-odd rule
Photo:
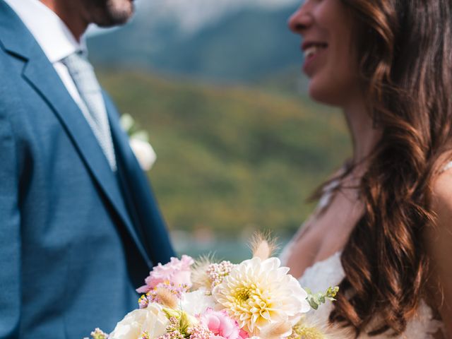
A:
<svg viewBox="0 0 452 339">
<path fill-rule="evenodd" d="M 290 17 L 289 27 L 304 40 L 302 69 L 309 78 L 309 95 L 343 107 L 360 83 L 355 18 L 340 0 L 304 1 Z"/>
</svg>

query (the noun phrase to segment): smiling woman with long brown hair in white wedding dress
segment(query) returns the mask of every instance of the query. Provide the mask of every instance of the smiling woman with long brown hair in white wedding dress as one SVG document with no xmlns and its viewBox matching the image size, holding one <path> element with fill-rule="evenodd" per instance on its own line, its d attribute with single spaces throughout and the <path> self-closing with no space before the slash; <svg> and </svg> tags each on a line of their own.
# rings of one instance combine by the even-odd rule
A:
<svg viewBox="0 0 452 339">
<path fill-rule="evenodd" d="M 354 152 L 282 260 L 314 292 L 340 286 L 323 316 L 357 338 L 452 338 L 451 12 L 306 0 L 290 18 L 309 95 L 343 109 Z"/>
</svg>

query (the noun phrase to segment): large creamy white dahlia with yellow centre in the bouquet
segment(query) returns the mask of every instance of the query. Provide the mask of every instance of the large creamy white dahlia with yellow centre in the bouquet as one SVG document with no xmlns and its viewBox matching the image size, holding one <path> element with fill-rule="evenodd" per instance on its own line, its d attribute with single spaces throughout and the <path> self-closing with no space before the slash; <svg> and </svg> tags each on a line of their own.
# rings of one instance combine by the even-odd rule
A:
<svg viewBox="0 0 452 339">
<path fill-rule="evenodd" d="M 213 290 L 215 300 L 251 336 L 265 335 L 270 326 L 285 328 L 280 338 L 287 337 L 310 309 L 307 292 L 280 265 L 278 258 L 243 261 Z"/>
</svg>

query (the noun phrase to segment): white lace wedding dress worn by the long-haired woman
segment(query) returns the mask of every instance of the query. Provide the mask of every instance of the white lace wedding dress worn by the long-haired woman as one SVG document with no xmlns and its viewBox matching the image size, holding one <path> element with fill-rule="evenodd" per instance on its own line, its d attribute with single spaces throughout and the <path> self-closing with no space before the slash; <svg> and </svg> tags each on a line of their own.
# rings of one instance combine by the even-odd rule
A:
<svg viewBox="0 0 452 339">
<path fill-rule="evenodd" d="M 452 162 L 448 163 L 444 168 L 444 171 L 450 168 L 452 168 Z M 324 189 L 317 210 L 324 210 L 329 205 L 333 196 L 333 191 L 338 184 L 338 182 L 332 182 Z M 292 247 L 295 245 L 295 240 L 299 238 L 302 229 L 303 227 L 300 227 L 300 230 L 295 234 L 295 237 L 292 238 L 280 254 L 280 260 L 283 266 L 287 263 Z M 304 270 L 302 277 L 299 278 L 299 283 L 302 287 L 308 287 L 312 292 L 325 292 L 328 287 L 339 285 L 343 278 L 345 278 L 345 272 L 340 263 L 340 252 L 336 252 L 329 258 L 318 261 Z M 332 302 L 326 302 L 326 304 L 321 305 L 318 310 L 311 310 L 308 316 L 312 316 L 313 319 L 316 319 L 319 323 L 326 324 L 328 323 L 328 316 L 332 310 Z M 417 310 L 416 316 L 408 322 L 407 328 L 402 335 L 390 337 L 383 333 L 382 335 L 370 337 L 363 333 L 359 335 L 359 339 L 433 339 L 433 335 L 438 331 L 443 330 L 443 328 L 444 324 L 441 321 L 434 319 L 432 309 L 425 302 L 422 302 Z"/>
</svg>

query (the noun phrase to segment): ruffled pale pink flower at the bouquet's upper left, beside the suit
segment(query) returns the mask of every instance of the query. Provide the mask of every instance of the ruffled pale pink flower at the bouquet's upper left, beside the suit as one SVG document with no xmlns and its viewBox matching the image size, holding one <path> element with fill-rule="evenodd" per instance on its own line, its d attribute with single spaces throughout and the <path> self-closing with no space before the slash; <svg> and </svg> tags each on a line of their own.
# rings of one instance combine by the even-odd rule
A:
<svg viewBox="0 0 452 339">
<path fill-rule="evenodd" d="M 150 271 L 148 278 L 145 278 L 146 285 L 139 287 L 136 292 L 147 293 L 158 284 L 169 281 L 174 286 L 186 285 L 191 287 L 190 266 L 194 264 L 191 256 L 183 255 L 181 260 L 171 258 L 169 263 L 162 265 L 159 263 Z"/>
</svg>

